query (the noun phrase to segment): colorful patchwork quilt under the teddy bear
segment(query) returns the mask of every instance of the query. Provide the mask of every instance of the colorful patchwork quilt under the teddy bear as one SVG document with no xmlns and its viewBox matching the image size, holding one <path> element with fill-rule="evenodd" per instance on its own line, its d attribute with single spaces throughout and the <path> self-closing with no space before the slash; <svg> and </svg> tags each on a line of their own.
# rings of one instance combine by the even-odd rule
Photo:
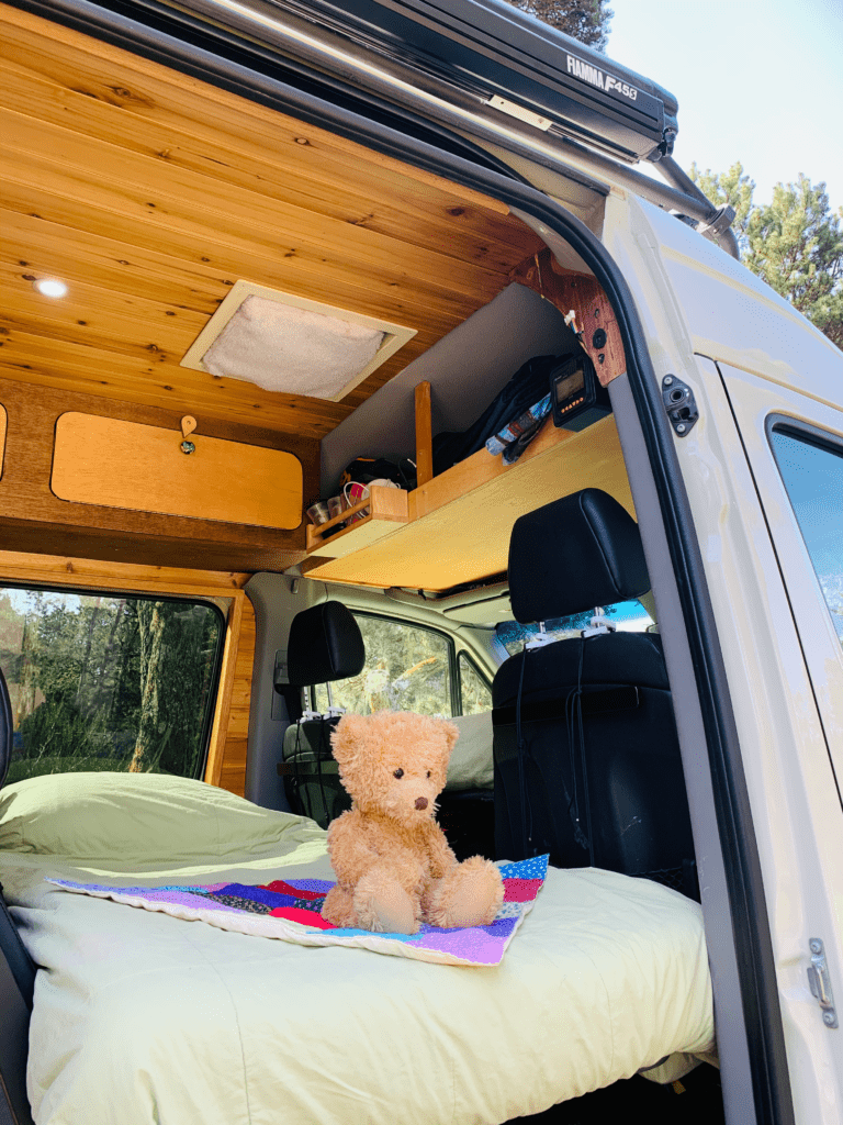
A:
<svg viewBox="0 0 843 1125">
<path fill-rule="evenodd" d="M 333 926 L 321 917 L 325 896 L 334 885 L 324 879 L 277 879 L 266 884 L 202 883 L 166 886 L 106 886 L 48 879 L 65 891 L 112 899 L 205 921 L 219 929 L 274 937 L 297 945 L 347 945 L 447 965 L 497 965 L 515 932 L 533 908 L 547 874 L 547 856 L 500 867 L 504 903 L 488 926 L 441 929 L 423 925 L 418 934 L 372 934 Z"/>
</svg>

